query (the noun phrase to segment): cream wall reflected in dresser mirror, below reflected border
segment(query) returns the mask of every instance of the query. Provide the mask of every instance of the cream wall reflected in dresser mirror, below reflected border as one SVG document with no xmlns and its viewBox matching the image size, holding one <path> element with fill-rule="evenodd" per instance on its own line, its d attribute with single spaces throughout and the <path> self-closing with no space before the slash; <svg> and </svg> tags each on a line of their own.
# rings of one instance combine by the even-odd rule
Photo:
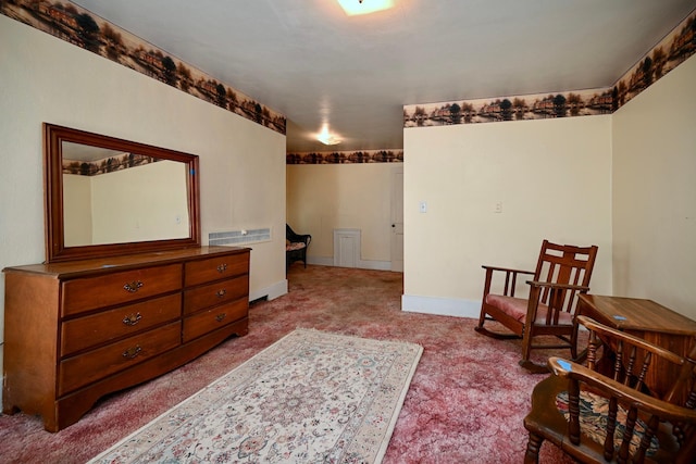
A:
<svg viewBox="0 0 696 464">
<path fill-rule="evenodd" d="M 186 164 L 169 160 L 91 176 L 64 173 L 65 247 L 189 237 L 186 178 Z"/>
</svg>

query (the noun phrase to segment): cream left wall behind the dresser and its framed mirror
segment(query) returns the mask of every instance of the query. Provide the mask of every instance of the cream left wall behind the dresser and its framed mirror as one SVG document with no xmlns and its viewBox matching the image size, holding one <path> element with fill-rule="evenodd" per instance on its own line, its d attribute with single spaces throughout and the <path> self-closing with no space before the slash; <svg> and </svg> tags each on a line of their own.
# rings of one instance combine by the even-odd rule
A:
<svg viewBox="0 0 696 464">
<path fill-rule="evenodd" d="M 198 154 L 204 241 L 271 227 L 272 241 L 251 247 L 251 298 L 287 290 L 285 136 L 7 16 L 0 43 L 0 267 L 45 259 L 49 122 Z M 0 296 L 1 324 L 4 279 Z"/>
</svg>

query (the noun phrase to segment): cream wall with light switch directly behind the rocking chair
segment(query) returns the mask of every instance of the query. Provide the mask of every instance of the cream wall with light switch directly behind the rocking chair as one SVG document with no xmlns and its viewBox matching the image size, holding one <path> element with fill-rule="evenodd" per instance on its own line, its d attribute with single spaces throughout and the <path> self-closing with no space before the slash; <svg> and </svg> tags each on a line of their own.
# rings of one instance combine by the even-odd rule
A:
<svg viewBox="0 0 696 464">
<path fill-rule="evenodd" d="M 611 292 L 611 116 L 412 128 L 403 139 L 405 310 L 477 316 L 481 265 L 533 268 L 545 238 L 599 246 L 592 287 Z"/>
</svg>

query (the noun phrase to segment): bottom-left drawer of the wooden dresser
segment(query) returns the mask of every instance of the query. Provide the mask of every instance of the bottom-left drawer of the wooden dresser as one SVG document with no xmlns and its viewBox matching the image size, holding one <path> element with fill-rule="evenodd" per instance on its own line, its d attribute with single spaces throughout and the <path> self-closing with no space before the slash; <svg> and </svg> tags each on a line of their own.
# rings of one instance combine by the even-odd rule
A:
<svg viewBox="0 0 696 464">
<path fill-rule="evenodd" d="M 176 348 L 182 342 L 182 324 L 145 331 L 60 363 L 58 394 L 63 396 L 110 374 L 136 365 Z"/>
</svg>

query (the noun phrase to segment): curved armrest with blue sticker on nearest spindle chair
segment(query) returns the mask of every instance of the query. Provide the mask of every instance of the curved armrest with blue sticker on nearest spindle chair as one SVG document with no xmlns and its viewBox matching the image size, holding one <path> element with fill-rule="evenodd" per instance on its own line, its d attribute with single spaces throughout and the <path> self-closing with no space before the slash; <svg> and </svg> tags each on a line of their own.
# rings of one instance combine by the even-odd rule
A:
<svg viewBox="0 0 696 464">
<path fill-rule="evenodd" d="M 555 376 L 582 381 L 593 387 L 595 391 L 602 392 L 602 396 L 616 397 L 620 402 L 631 406 L 637 406 L 648 414 L 658 415 L 662 419 L 696 424 L 696 410 L 683 407 L 642 393 L 581 364 L 551 356 L 548 360 L 548 366 Z"/>
</svg>

